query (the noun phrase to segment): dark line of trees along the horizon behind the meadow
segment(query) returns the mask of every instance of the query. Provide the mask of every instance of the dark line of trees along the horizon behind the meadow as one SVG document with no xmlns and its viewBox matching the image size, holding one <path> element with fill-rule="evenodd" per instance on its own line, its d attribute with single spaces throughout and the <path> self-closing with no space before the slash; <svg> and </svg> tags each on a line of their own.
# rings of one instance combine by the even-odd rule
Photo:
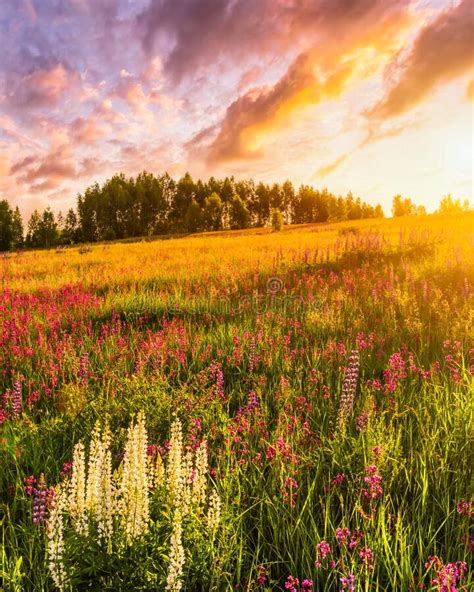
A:
<svg viewBox="0 0 474 592">
<path fill-rule="evenodd" d="M 448 209 L 463 208 L 459 200 Z M 447 198 L 445 198 L 447 199 Z M 443 203 L 443 202 L 442 202 Z M 411 199 L 395 196 L 394 216 L 423 213 Z M 77 196 L 76 208 L 55 215 L 50 208 L 35 210 L 23 228 L 20 211 L 0 201 L 0 250 L 41 248 L 81 242 L 244 229 L 282 223 L 304 224 L 380 218 L 380 205 L 372 206 L 352 193 L 336 196 L 327 189 L 301 185 L 256 184 L 233 177 L 194 181 L 189 173 L 175 181 L 167 173 L 142 172 L 137 177 L 114 175 L 101 186 L 88 187 Z"/>
</svg>

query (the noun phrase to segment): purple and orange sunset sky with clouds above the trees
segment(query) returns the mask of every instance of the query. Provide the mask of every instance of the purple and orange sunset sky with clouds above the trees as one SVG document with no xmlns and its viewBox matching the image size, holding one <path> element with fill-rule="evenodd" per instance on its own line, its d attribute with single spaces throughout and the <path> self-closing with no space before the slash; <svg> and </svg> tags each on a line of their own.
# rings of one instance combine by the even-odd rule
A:
<svg viewBox="0 0 474 592">
<path fill-rule="evenodd" d="M 117 172 L 472 200 L 472 0 L 0 0 L 0 199 Z"/>
</svg>

